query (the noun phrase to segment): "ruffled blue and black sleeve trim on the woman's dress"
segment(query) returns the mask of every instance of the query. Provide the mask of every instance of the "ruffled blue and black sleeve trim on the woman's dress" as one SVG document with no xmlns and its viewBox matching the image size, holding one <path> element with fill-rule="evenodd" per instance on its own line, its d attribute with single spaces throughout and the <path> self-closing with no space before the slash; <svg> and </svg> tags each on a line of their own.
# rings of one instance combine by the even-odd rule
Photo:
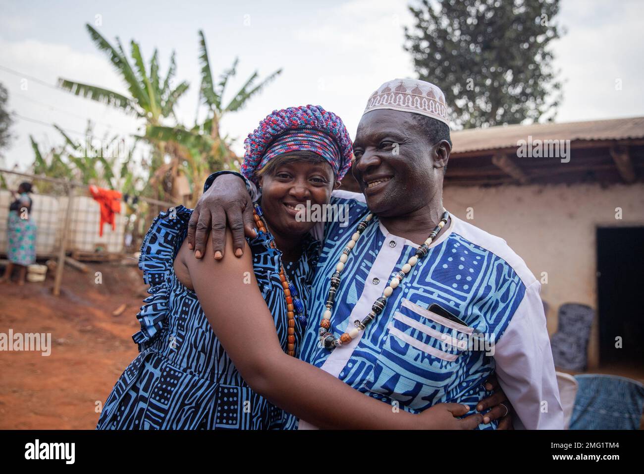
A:
<svg viewBox="0 0 644 474">
<path fill-rule="evenodd" d="M 132 336 L 139 350 L 146 348 L 164 326 L 175 256 L 187 234 L 191 214 L 192 210 L 184 206 L 161 212 L 143 239 L 138 268 L 143 272 L 143 281 L 150 285 L 150 296 L 143 300 L 137 314 L 141 330 Z"/>
</svg>

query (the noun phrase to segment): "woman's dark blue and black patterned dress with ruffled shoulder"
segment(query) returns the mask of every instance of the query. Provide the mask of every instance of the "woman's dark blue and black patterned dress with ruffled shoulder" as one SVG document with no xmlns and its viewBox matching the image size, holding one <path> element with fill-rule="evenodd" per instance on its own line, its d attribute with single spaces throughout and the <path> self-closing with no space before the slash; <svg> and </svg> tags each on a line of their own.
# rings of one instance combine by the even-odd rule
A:
<svg viewBox="0 0 644 474">
<path fill-rule="evenodd" d="M 139 355 L 118 379 L 100 414 L 99 430 L 272 430 L 293 429 L 294 416 L 258 395 L 244 382 L 207 321 L 194 291 L 176 278 L 173 264 L 187 235 L 192 210 L 162 212 L 143 241 L 139 268 L 150 284 L 133 336 Z M 261 294 L 272 313 L 284 350 L 287 310 L 279 281 L 279 250 L 262 234 L 248 239 Z M 305 301 L 310 294 L 319 242 L 305 238 L 298 262 L 285 264 Z M 241 309 L 241 308 L 240 308 Z M 296 351 L 302 339 L 296 318 Z"/>
</svg>

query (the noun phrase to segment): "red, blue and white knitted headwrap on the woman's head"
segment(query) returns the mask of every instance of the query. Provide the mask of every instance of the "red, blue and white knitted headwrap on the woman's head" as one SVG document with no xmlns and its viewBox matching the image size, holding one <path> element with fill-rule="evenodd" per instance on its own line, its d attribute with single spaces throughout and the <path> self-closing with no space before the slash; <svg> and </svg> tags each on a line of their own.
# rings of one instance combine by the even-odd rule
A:
<svg viewBox="0 0 644 474">
<path fill-rule="evenodd" d="M 257 170 L 283 153 L 299 150 L 317 153 L 331 165 L 338 181 L 351 168 L 353 158 L 345 124 L 319 105 L 274 110 L 248 135 L 244 147 L 242 174 L 252 181 L 256 181 Z"/>
</svg>

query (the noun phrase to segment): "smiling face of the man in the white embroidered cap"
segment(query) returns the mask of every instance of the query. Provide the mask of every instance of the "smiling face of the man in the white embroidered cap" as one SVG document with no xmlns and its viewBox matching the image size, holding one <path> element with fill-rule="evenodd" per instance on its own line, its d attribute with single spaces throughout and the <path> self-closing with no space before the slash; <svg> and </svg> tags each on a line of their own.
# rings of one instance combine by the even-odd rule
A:
<svg viewBox="0 0 644 474">
<path fill-rule="evenodd" d="M 353 173 L 369 209 L 395 217 L 426 206 L 442 193 L 442 168 L 450 150 L 445 140 L 433 143 L 410 112 L 384 109 L 363 115 L 355 135 Z"/>
</svg>

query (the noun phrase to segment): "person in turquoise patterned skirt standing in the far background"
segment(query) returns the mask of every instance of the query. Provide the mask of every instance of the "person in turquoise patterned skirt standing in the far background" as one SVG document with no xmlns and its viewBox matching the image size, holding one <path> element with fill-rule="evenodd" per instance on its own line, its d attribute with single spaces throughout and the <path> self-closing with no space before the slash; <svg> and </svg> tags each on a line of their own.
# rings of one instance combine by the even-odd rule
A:
<svg viewBox="0 0 644 474">
<path fill-rule="evenodd" d="M 9 206 L 9 221 L 7 225 L 9 264 L 1 283 L 10 282 L 14 267 L 18 266 L 18 284 L 23 285 L 27 274 L 27 266 L 36 261 L 36 224 L 32 216 L 31 183 L 21 183 L 18 190 L 13 192 L 15 200 Z"/>
</svg>

